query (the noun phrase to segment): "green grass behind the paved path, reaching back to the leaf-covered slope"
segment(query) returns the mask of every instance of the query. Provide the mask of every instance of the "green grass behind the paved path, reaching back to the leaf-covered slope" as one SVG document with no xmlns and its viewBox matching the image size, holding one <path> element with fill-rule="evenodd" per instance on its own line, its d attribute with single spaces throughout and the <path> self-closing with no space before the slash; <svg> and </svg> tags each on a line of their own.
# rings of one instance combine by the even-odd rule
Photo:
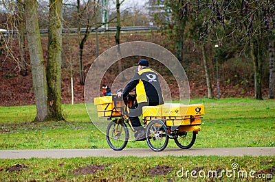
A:
<svg viewBox="0 0 275 182">
<path fill-rule="evenodd" d="M 275 101 L 194 99 L 205 105 L 202 130 L 193 147 L 275 146 Z M 109 148 L 98 123 L 96 107 L 89 119 L 85 105 L 63 105 L 67 122 L 32 122 L 35 106 L 0 107 L 0 149 Z M 93 124 L 95 123 L 96 126 Z M 129 142 L 128 148 L 148 147 Z M 168 147 L 177 147 L 170 140 Z"/>
</svg>

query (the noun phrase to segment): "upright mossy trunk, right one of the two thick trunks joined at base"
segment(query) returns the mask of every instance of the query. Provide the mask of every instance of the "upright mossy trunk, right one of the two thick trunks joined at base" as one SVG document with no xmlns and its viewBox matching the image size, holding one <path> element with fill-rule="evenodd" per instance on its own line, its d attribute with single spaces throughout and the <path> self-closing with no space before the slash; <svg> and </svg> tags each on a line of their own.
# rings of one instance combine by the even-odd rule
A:
<svg viewBox="0 0 275 182">
<path fill-rule="evenodd" d="M 50 0 L 47 57 L 48 120 L 64 120 L 61 109 L 62 0 Z"/>
</svg>

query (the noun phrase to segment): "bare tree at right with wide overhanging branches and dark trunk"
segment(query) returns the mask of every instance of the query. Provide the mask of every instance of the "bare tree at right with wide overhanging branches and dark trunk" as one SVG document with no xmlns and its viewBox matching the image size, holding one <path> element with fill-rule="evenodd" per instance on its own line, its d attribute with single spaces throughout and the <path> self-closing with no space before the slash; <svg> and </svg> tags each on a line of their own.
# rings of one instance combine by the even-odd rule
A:
<svg viewBox="0 0 275 182">
<path fill-rule="evenodd" d="M 267 33 L 274 29 L 269 22 L 275 16 L 275 1 L 182 1 L 181 14 L 200 14 L 206 16 L 205 31 L 200 36 L 209 33 L 208 27 L 220 25 L 227 32 L 215 31 L 218 41 L 232 37 L 236 44 L 242 44 L 243 50 L 250 50 L 250 57 L 254 63 L 254 97 L 263 99 L 263 49 Z M 222 33 L 222 34 L 221 34 Z M 219 38 L 223 37 L 223 38 Z"/>
</svg>

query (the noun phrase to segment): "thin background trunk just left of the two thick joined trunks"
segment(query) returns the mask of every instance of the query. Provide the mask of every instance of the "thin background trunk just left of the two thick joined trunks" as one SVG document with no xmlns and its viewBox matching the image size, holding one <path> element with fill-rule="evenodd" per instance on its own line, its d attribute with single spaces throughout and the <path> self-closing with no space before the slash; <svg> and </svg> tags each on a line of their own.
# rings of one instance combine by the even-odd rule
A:
<svg viewBox="0 0 275 182">
<path fill-rule="evenodd" d="M 26 63 L 25 53 L 25 16 L 24 5 L 22 0 L 17 0 L 17 14 L 18 14 L 18 30 L 19 30 L 19 53 L 20 53 L 20 74 L 25 77 L 28 75 L 28 68 Z"/>
</svg>

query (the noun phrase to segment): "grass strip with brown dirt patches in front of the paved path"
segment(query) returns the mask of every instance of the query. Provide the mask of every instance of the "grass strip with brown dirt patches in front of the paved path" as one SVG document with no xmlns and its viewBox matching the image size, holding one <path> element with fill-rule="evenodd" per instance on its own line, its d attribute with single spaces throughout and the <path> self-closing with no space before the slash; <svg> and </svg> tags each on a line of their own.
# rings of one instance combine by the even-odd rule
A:
<svg viewBox="0 0 275 182">
<path fill-rule="evenodd" d="M 232 170 L 232 163 L 237 163 L 239 168 Z M 23 164 L 27 168 L 12 172 L 8 168 L 15 164 Z M 101 171 L 95 174 L 74 175 L 74 170 L 88 165 L 104 165 Z M 152 176 L 150 171 L 157 166 L 169 168 L 166 174 Z M 190 171 L 200 168 L 206 177 L 195 179 Z M 274 181 L 275 157 L 86 157 L 70 159 L 1 159 L 1 181 L 265 181 L 256 179 L 258 175 L 273 177 Z M 189 170 L 189 172 L 187 172 Z M 211 178 L 207 174 L 210 170 L 220 171 L 221 178 Z M 228 171 L 228 175 L 221 171 Z M 248 176 L 238 178 L 238 172 L 246 171 Z M 182 176 L 182 171 L 184 174 Z M 250 171 L 254 179 L 250 177 Z M 186 173 L 187 172 L 187 173 Z M 178 175 L 179 174 L 179 175 Z M 230 177 L 230 174 L 232 176 Z M 240 173 L 241 175 L 241 173 Z M 182 176 L 182 177 L 181 177 Z M 193 174 L 198 176 L 199 174 Z"/>
</svg>

